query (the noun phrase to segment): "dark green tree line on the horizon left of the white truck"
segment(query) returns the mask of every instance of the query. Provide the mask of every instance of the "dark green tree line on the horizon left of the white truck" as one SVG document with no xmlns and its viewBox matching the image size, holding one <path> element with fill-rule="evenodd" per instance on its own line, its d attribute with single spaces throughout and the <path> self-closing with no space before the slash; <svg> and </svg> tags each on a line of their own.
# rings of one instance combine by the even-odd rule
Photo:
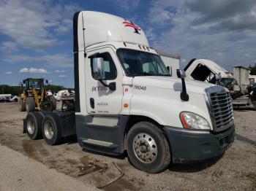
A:
<svg viewBox="0 0 256 191">
<path fill-rule="evenodd" d="M 59 90 L 74 90 L 73 88 L 64 87 L 62 85 L 45 85 L 46 90 L 52 93 L 58 93 Z M 0 94 L 20 95 L 23 93 L 23 87 L 18 85 L 0 85 Z"/>
</svg>

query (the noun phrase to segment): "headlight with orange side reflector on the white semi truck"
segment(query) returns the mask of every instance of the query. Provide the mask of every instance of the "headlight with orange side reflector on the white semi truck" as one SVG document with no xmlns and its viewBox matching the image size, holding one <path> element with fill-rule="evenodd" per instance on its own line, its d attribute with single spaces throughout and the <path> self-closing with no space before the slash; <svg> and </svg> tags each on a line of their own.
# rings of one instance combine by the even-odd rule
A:
<svg viewBox="0 0 256 191">
<path fill-rule="evenodd" d="M 210 130 L 208 121 L 198 114 L 181 112 L 181 122 L 184 128 Z"/>
</svg>

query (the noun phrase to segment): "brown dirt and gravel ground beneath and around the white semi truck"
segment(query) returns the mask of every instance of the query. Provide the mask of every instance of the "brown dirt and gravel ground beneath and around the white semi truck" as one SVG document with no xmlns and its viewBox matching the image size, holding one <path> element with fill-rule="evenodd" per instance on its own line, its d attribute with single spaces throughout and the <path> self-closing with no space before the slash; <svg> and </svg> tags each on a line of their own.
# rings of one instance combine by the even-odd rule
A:
<svg viewBox="0 0 256 191">
<path fill-rule="evenodd" d="M 160 174 L 138 171 L 125 156 L 84 151 L 75 137 L 53 147 L 43 139 L 31 141 L 22 133 L 23 117 L 26 112 L 18 112 L 18 104 L 0 104 L 0 144 L 95 187 L 118 176 L 113 165 L 117 163 L 124 176 L 103 190 L 256 190 L 256 111 L 235 111 L 236 140 L 222 157 L 203 163 L 172 164 Z M 107 163 L 108 169 L 78 176 L 85 157 Z"/>
</svg>

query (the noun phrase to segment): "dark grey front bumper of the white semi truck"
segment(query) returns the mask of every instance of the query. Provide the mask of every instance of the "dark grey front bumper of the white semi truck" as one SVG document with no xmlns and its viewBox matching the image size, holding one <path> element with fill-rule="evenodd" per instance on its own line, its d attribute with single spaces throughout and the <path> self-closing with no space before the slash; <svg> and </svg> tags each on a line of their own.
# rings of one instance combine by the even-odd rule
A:
<svg viewBox="0 0 256 191">
<path fill-rule="evenodd" d="M 235 125 L 219 133 L 190 133 L 164 128 L 173 163 L 207 160 L 222 155 L 234 141 Z"/>
</svg>

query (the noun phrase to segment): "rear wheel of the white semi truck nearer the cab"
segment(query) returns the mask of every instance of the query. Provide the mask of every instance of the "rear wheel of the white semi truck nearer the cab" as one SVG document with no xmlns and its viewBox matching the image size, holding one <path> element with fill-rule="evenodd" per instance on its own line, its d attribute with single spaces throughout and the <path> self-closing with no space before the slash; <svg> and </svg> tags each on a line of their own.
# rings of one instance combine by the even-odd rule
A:
<svg viewBox="0 0 256 191">
<path fill-rule="evenodd" d="M 61 136 L 61 122 L 59 116 L 55 114 L 48 114 L 42 120 L 42 136 L 49 145 L 60 144 Z"/>
</svg>

